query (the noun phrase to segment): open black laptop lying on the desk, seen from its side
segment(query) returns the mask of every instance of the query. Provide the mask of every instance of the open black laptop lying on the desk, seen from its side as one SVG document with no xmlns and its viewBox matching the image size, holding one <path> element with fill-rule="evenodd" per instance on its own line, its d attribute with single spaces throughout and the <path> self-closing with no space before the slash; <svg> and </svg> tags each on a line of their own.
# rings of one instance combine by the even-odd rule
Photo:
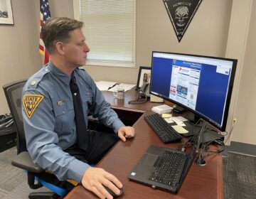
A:
<svg viewBox="0 0 256 199">
<path fill-rule="evenodd" d="M 171 193 L 178 193 L 198 151 L 201 133 L 189 154 L 176 149 L 149 146 L 128 178 Z M 171 161 L 169 156 L 171 156 Z M 169 162 L 169 163 L 168 163 Z M 163 170 L 163 171 L 161 171 Z"/>
</svg>

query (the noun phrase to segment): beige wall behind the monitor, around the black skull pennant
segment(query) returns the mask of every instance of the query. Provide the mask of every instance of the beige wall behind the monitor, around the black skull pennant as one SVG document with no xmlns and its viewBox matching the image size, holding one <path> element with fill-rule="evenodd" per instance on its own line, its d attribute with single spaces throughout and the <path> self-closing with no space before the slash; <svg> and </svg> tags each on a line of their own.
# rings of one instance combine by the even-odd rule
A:
<svg viewBox="0 0 256 199">
<path fill-rule="evenodd" d="M 253 55 L 256 48 L 256 3 L 252 5 L 252 2 L 253 0 L 203 0 L 181 42 L 178 43 L 163 2 L 139 0 L 136 33 L 137 68 L 85 66 L 85 69 L 95 80 L 136 83 L 139 65 L 151 65 L 152 50 L 237 58 L 238 68 L 227 125 L 230 139 L 226 144 L 229 145 L 230 140 L 256 144 L 256 134 L 252 127 L 256 111 L 253 103 L 256 95 Z M 251 13 L 254 15 L 251 16 Z M 235 125 L 234 118 L 237 119 Z"/>
</svg>

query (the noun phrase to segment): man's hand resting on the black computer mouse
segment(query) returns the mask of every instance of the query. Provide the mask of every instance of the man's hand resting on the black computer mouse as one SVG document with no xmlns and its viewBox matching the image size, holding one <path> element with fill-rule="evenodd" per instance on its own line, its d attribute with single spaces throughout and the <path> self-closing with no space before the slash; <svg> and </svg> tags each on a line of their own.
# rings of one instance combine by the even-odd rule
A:
<svg viewBox="0 0 256 199">
<path fill-rule="evenodd" d="M 114 191 L 117 195 L 120 194 L 118 188 L 122 188 L 122 183 L 111 173 L 108 173 L 103 168 L 88 168 L 82 176 L 82 185 L 87 190 L 95 193 L 99 198 L 112 199 L 112 195 L 107 192 L 103 185 Z M 118 188 L 117 188 L 118 187 Z"/>
</svg>

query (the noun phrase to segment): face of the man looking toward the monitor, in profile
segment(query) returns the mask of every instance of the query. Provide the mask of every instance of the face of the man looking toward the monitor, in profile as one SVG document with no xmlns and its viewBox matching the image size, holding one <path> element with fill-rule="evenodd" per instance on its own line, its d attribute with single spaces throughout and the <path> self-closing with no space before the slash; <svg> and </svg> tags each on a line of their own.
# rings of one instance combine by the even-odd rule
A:
<svg viewBox="0 0 256 199">
<path fill-rule="evenodd" d="M 71 31 L 70 40 L 67 43 L 63 43 L 65 61 L 76 67 L 85 65 L 89 51 L 90 48 L 85 43 L 85 36 L 80 29 Z"/>
</svg>

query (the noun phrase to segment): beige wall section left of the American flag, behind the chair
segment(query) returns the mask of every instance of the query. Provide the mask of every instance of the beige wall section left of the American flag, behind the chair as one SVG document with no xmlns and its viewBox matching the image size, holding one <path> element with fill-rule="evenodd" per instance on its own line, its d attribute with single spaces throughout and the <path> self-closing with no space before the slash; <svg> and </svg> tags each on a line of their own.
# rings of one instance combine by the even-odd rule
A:
<svg viewBox="0 0 256 199">
<path fill-rule="evenodd" d="M 14 25 L 0 24 L 0 85 L 26 79 L 41 67 L 35 1 L 12 0 Z M 39 9 L 39 8 L 38 8 Z M 0 114 L 9 112 L 0 88 Z"/>
</svg>

